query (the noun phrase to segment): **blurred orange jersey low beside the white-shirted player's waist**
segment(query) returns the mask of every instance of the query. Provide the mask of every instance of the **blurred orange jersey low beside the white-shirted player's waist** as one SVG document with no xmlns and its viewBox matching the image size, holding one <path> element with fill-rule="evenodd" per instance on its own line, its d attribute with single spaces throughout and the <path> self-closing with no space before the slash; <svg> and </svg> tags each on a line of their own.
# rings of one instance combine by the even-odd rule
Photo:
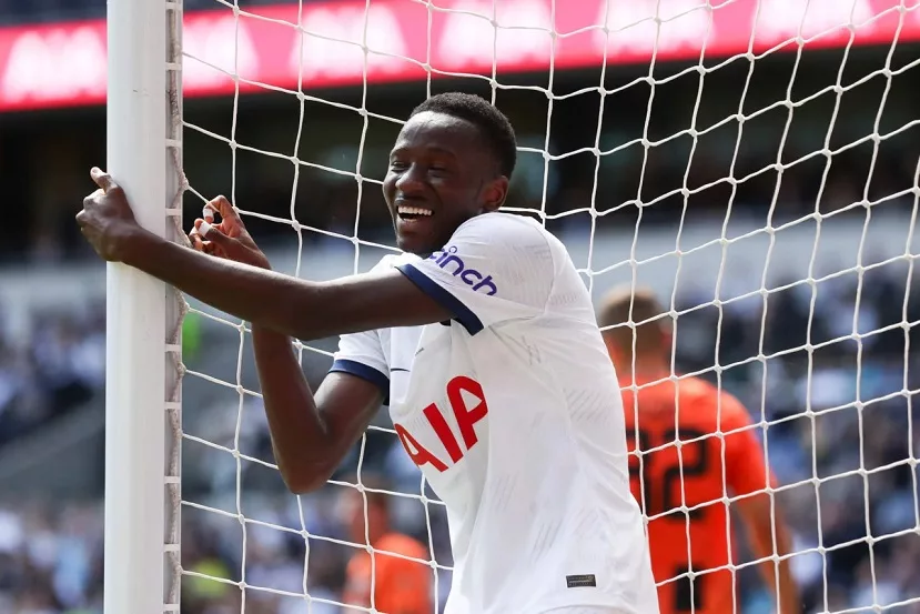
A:
<svg viewBox="0 0 920 614">
<path fill-rule="evenodd" d="M 374 544 L 374 607 L 382 614 L 431 614 L 432 567 L 404 556 L 429 560 L 425 546 L 398 533 L 388 533 Z M 368 553 L 360 552 L 352 557 L 346 570 L 345 603 L 371 607 L 371 570 Z M 357 610 L 345 608 L 345 612 Z"/>
</svg>

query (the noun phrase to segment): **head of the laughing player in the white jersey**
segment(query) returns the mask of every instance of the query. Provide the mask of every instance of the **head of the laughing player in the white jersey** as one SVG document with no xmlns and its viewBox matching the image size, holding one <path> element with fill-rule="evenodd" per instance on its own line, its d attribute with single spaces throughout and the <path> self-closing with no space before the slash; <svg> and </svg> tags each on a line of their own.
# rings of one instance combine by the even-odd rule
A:
<svg viewBox="0 0 920 614">
<path fill-rule="evenodd" d="M 416 107 L 383 182 L 400 249 L 437 251 L 463 222 L 502 207 L 516 161 L 510 122 L 483 98 L 443 93 Z"/>
</svg>

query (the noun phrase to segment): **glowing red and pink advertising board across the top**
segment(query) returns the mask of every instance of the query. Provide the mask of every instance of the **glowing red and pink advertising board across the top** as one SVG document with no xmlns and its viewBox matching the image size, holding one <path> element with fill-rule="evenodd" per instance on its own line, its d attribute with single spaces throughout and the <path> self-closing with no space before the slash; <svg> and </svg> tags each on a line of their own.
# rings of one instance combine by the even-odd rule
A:
<svg viewBox="0 0 920 614">
<path fill-rule="evenodd" d="M 185 95 L 920 40 L 920 0 L 364 0 L 185 16 Z M 495 8 L 494 8 L 495 7 Z M 658 14 L 656 16 L 656 7 Z M 494 14 L 493 14 L 494 13 Z M 495 27 L 497 24 L 497 28 Z M 852 42 L 851 42 L 852 38 Z M 362 46 L 365 41 L 365 49 Z M 495 59 L 495 60 L 493 60 Z M 495 64 L 493 67 L 493 64 Z M 0 29 L 0 111 L 105 100 L 105 21 Z"/>
</svg>

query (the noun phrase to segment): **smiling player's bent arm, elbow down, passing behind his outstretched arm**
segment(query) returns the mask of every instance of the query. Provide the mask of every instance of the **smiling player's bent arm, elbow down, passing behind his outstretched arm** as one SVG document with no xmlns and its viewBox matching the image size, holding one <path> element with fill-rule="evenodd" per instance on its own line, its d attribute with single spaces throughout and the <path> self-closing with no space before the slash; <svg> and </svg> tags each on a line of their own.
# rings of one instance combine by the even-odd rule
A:
<svg viewBox="0 0 920 614">
<path fill-rule="evenodd" d="M 192 246 L 218 258 L 271 269 L 242 220 L 226 207 L 229 203 L 223 204 L 223 221 L 213 227 L 209 236 L 230 236 L 235 241 L 204 241 L 199 232 L 204 220 L 199 219 L 189 234 Z M 216 202 L 211 207 L 219 209 Z M 362 378 L 337 369 L 326 376 L 314 395 L 291 338 L 259 325 L 253 325 L 252 338 L 272 450 L 281 476 L 294 493 L 319 489 L 380 409 L 385 378 Z M 366 341 L 362 343 L 357 335 L 343 339 L 342 345 L 346 351 L 352 349 L 353 359 L 361 360 L 362 354 L 367 354 L 364 363 L 374 364 L 374 359 L 381 355 L 378 349 Z"/>
</svg>

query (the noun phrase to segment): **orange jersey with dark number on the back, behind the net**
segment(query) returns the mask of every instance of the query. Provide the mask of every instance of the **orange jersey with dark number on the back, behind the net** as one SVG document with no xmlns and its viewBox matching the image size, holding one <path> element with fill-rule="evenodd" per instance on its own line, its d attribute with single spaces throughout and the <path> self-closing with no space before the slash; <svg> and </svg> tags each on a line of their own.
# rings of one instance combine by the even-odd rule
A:
<svg viewBox="0 0 920 614">
<path fill-rule="evenodd" d="M 650 519 L 661 614 L 737 612 L 726 568 L 735 541 L 722 497 L 762 491 L 771 482 L 750 416 L 737 399 L 697 378 L 639 389 L 638 403 L 631 384 L 620 379 L 630 486 Z M 692 586 L 689 570 L 700 574 Z"/>
</svg>

